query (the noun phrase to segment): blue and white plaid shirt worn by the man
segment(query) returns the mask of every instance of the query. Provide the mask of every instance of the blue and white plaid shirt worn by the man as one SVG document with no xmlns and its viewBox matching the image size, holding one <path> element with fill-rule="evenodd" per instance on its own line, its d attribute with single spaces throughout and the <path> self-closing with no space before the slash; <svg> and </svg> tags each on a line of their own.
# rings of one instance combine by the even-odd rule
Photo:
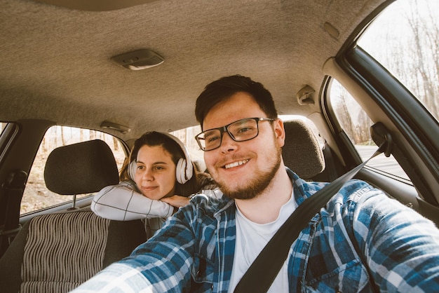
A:
<svg viewBox="0 0 439 293">
<path fill-rule="evenodd" d="M 288 174 L 298 205 L 325 186 Z M 227 292 L 234 200 L 191 202 L 130 257 L 75 292 Z M 439 230 L 359 180 L 346 183 L 311 219 L 287 261 L 290 292 L 439 292 Z"/>
</svg>

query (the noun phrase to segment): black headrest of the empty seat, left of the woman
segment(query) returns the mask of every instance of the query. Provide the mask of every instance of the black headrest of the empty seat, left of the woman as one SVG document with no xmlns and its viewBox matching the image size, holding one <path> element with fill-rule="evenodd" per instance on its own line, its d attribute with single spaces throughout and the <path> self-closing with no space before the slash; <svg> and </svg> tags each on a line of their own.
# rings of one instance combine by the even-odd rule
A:
<svg viewBox="0 0 439 293">
<path fill-rule="evenodd" d="M 62 195 L 93 193 L 119 183 L 114 155 L 100 139 L 54 149 L 47 158 L 44 180 Z"/>
</svg>

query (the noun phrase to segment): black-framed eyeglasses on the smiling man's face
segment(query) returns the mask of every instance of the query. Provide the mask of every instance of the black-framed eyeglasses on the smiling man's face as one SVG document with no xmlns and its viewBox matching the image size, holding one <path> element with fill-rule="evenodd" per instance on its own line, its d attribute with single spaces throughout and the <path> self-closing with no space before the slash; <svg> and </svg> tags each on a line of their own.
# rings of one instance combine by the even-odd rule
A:
<svg viewBox="0 0 439 293">
<path fill-rule="evenodd" d="M 245 142 L 259 135 L 259 121 L 275 121 L 276 118 L 243 118 L 228 125 L 205 130 L 195 136 L 202 151 L 212 151 L 221 146 L 222 135 L 229 133 L 235 142 Z"/>
</svg>

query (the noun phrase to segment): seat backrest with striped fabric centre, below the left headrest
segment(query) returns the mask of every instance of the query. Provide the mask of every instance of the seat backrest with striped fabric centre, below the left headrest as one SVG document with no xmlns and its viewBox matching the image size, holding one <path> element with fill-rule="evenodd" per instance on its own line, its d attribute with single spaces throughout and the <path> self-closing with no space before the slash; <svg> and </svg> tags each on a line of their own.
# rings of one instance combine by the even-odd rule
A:
<svg viewBox="0 0 439 293">
<path fill-rule="evenodd" d="M 2 278 L 12 278 L 2 280 L 2 291 L 69 292 L 146 239 L 140 220 L 111 221 L 90 211 L 34 217 L 1 259 L 8 267 Z"/>
</svg>

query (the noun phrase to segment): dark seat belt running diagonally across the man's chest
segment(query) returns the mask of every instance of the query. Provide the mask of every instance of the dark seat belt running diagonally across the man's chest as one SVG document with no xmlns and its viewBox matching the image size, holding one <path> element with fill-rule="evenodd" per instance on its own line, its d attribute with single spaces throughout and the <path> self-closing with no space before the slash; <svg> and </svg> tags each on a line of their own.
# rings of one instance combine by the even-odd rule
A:
<svg viewBox="0 0 439 293">
<path fill-rule="evenodd" d="M 391 145 L 391 138 L 386 137 L 386 139 L 389 140 L 384 141 L 369 159 L 338 177 L 309 198 L 306 198 L 297 207 L 250 265 L 250 268 L 248 268 L 243 278 L 236 285 L 234 293 L 262 293 L 268 291 L 271 283 L 281 270 L 285 259 L 287 259 L 292 243 L 295 242 L 299 233 L 309 224 L 309 221 L 320 211 L 320 208 L 324 207 L 332 196 L 346 182 L 352 179 L 370 159 L 382 152 L 386 156 L 390 156 L 389 146 Z"/>
</svg>

